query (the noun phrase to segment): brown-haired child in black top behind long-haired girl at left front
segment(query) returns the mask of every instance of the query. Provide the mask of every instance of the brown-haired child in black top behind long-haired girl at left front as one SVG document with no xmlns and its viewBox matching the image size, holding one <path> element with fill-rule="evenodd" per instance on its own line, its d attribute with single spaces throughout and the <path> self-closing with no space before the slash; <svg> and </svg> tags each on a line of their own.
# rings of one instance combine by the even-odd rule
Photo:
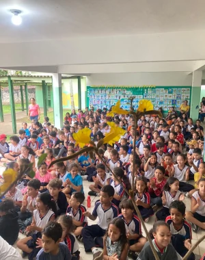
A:
<svg viewBox="0 0 205 260">
<path fill-rule="evenodd" d="M 52 196 L 52 199 L 55 201 L 57 206 L 57 216 L 66 213 L 68 207 L 68 202 L 64 192 L 61 192 L 62 181 L 60 179 L 52 179 L 49 181 L 48 190 Z"/>
</svg>

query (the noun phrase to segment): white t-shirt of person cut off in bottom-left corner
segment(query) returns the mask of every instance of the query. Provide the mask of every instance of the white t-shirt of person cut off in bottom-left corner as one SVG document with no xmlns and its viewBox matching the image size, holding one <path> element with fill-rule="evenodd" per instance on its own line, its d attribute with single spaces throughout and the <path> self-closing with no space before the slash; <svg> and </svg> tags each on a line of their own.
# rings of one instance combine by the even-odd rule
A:
<svg viewBox="0 0 205 260">
<path fill-rule="evenodd" d="M 8 242 L 6 242 L 0 236 L 0 259 L 1 260 L 22 260 L 19 252 L 13 246 L 10 246 Z"/>
</svg>

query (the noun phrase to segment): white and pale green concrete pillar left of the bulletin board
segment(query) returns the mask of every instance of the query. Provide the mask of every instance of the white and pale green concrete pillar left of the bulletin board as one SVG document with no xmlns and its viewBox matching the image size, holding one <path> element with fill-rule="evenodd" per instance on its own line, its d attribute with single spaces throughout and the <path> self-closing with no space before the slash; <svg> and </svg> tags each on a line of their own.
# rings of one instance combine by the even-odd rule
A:
<svg viewBox="0 0 205 260">
<path fill-rule="evenodd" d="M 53 73 L 53 115 L 55 127 L 61 129 L 63 126 L 63 103 L 61 74 Z"/>
</svg>

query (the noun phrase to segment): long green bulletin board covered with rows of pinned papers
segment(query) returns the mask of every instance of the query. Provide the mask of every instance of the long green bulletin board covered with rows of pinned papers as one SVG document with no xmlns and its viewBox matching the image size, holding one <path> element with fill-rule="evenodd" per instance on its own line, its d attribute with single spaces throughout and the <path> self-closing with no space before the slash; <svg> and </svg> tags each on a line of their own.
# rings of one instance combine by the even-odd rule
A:
<svg viewBox="0 0 205 260">
<path fill-rule="evenodd" d="M 120 100 L 121 107 L 129 109 L 130 96 L 136 97 L 133 101 L 135 109 L 141 99 L 148 99 L 152 101 L 154 109 L 162 107 L 163 112 L 168 112 L 170 107 L 176 107 L 177 110 L 185 99 L 190 105 L 191 86 L 87 86 L 86 103 L 87 107 L 94 107 L 94 109 L 103 107 L 109 109 Z"/>
</svg>

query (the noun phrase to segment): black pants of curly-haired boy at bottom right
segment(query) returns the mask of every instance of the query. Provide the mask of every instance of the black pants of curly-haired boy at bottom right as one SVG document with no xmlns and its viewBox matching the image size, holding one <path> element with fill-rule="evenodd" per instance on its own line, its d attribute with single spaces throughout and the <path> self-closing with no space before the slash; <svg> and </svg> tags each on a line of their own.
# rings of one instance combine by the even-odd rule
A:
<svg viewBox="0 0 205 260">
<path fill-rule="evenodd" d="M 176 252 L 178 252 L 178 254 L 181 257 L 184 257 L 184 255 L 187 254 L 187 252 L 189 251 L 187 248 L 185 248 L 184 246 L 184 237 L 182 235 L 176 234 L 176 235 L 172 235 L 172 245 L 174 246 Z M 195 255 L 192 252 L 191 255 L 187 258 L 187 260 L 195 260 Z"/>
</svg>

